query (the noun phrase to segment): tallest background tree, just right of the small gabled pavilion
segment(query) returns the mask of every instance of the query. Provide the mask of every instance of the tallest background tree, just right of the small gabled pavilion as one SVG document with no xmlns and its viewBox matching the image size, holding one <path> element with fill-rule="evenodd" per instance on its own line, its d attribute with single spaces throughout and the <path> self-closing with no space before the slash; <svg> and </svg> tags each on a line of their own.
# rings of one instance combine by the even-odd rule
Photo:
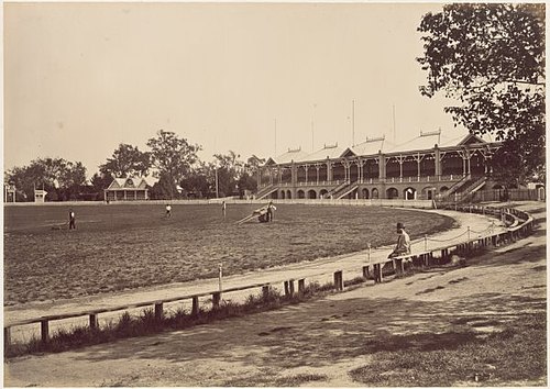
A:
<svg viewBox="0 0 550 389">
<path fill-rule="evenodd" d="M 170 179 L 173 182 L 182 181 L 198 160 L 197 152 L 201 147 L 191 145 L 186 138 L 179 138 L 175 133 L 161 130 L 157 136 L 147 141 L 151 147 L 153 165 L 158 169 L 157 175 Z"/>
</svg>

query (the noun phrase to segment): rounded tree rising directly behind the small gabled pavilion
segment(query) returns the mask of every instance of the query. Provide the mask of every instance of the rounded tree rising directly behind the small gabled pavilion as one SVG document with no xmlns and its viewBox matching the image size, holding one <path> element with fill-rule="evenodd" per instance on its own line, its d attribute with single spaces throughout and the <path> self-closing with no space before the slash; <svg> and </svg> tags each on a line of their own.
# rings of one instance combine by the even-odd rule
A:
<svg viewBox="0 0 550 389">
<path fill-rule="evenodd" d="M 121 143 L 107 163 L 99 166 L 102 174 L 113 177 L 146 176 L 151 168 L 151 155 L 138 147 Z"/>
</svg>

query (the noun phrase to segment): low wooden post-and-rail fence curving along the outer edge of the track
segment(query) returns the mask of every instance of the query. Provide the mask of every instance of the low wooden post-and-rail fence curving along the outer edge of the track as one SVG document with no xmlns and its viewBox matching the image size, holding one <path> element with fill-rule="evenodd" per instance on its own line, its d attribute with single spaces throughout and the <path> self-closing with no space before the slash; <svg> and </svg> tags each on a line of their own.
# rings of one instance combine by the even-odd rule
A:
<svg viewBox="0 0 550 389">
<path fill-rule="evenodd" d="M 486 231 L 486 233 L 482 232 L 482 234 L 477 235 L 475 238 L 471 238 L 468 236 L 466 240 L 461 241 L 459 243 L 452 244 L 443 244 L 439 247 L 395 257 L 395 258 L 382 258 L 375 260 L 374 263 L 370 263 L 369 265 L 364 265 L 362 268 L 362 274 L 364 279 L 374 279 L 374 282 L 383 281 L 383 268 L 386 264 L 391 264 L 393 267 L 393 271 L 397 276 L 405 274 L 408 269 L 413 269 L 415 267 L 426 268 L 430 266 L 440 266 L 450 262 L 451 256 L 454 254 L 458 255 L 469 255 L 472 252 L 490 247 L 490 246 L 499 246 L 502 244 L 506 244 L 508 242 L 514 242 L 521 237 L 525 237 L 532 232 L 532 218 L 527 213 L 516 209 L 509 208 L 493 208 L 493 207 L 479 207 L 479 205 L 468 205 L 468 207 L 448 207 L 447 209 L 461 211 L 461 212 L 471 212 L 471 213 L 481 213 L 486 215 L 492 215 L 499 218 L 506 225 L 507 229 L 504 232 L 494 233 L 491 231 Z M 465 233 L 461 234 L 476 233 L 468 230 Z M 460 237 L 460 235 L 459 235 Z M 425 237 L 426 238 L 426 237 Z M 457 237 L 455 237 L 457 238 Z M 453 238 L 453 240 L 455 240 Z M 418 243 L 421 240 L 417 240 L 414 243 Z M 432 240 L 433 241 L 433 240 Z M 370 258 L 369 258 L 370 259 Z M 370 260 L 369 260 L 370 262 Z M 392 270 L 389 270 L 392 271 Z M 327 274 L 328 275 L 328 274 Z M 307 278 L 312 278 L 315 276 L 308 276 Z M 333 289 L 337 291 L 341 291 L 344 289 L 344 278 L 343 270 L 337 270 L 332 274 L 333 277 Z M 297 281 L 297 291 L 295 289 L 295 282 Z M 211 296 L 211 305 L 212 309 L 217 309 L 220 307 L 220 301 L 223 294 L 228 294 L 231 292 L 243 291 L 249 289 L 257 289 L 261 288 L 264 299 L 268 298 L 270 288 L 275 285 L 284 285 L 285 296 L 293 297 L 296 292 L 301 293 L 306 288 L 306 277 L 299 279 L 288 279 L 284 281 L 273 281 L 273 282 L 263 282 L 263 284 L 253 284 L 242 287 L 228 288 L 222 290 L 213 290 L 207 291 L 196 294 L 186 294 L 186 296 L 176 296 L 167 299 L 161 300 L 152 300 L 152 301 L 142 301 L 133 304 L 118 305 L 111 308 L 100 308 L 95 310 L 85 310 L 73 313 L 65 314 L 53 314 L 45 315 L 41 318 L 33 318 L 28 320 L 15 321 L 9 324 L 4 323 L 4 347 L 11 344 L 11 329 L 21 325 L 28 324 L 38 324 L 41 329 L 41 341 L 48 342 L 50 340 L 50 322 L 72 319 L 72 318 L 86 318 L 89 319 L 89 326 L 95 329 L 98 326 L 98 315 L 107 312 L 116 312 L 116 311 L 125 311 L 129 309 L 143 308 L 143 307 L 153 307 L 154 314 L 156 319 L 163 318 L 164 304 L 184 300 L 191 300 L 191 315 L 199 314 L 199 298 Z"/>
</svg>

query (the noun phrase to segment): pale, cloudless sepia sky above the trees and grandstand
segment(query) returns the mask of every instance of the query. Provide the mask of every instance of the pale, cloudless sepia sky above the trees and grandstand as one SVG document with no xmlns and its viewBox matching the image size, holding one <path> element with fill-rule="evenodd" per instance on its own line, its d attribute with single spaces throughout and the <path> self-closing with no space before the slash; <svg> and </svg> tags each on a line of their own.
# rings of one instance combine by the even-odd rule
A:
<svg viewBox="0 0 550 389">
<path fill-rule="evenodd" d="M 465 133 L 418 91 L 416 29 L 441 7 L 4 3 L 4 169 L 62 157 L 90 177 L 160 130 L 205 162 Z"/>
</svg>

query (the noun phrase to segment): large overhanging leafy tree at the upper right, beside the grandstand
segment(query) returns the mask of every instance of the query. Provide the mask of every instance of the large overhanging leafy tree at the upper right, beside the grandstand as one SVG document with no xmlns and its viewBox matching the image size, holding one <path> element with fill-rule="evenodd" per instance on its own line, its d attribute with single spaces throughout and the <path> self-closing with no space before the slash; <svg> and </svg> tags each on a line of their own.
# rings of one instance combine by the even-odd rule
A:
<svg viewBox="0 0 550 389">
<path fill-rule="evenodd" d="M 444 91 L 457 124 L 473 134 L 494 134 L 503 146 L 493 156 L 519 184 L 544 177 L 546 56 L 543 3 L 454 3 L 424 15 L 428 70 L 424 96 Z M 510 156 L 513 156 L 510 158 Z"/>
</svg>

